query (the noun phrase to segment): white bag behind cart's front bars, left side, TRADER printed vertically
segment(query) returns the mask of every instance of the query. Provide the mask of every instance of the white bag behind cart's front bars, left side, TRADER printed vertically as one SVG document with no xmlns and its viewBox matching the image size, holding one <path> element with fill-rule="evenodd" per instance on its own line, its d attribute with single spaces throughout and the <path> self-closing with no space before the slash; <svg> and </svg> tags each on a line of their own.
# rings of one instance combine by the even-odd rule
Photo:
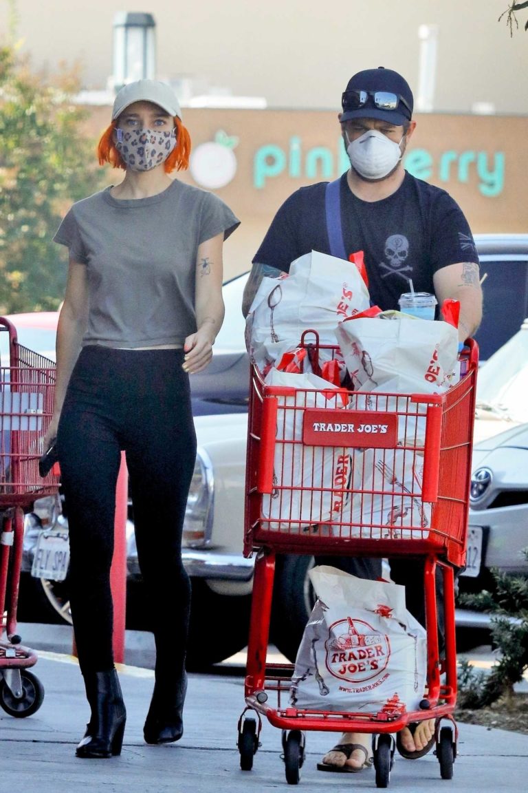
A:
<svg viewBox="0 0 528 793">
<path fill-rule="evenodd" d="M 265 382 L 295 390 L 291 395 L 278 397 L 274 488 L 271 495 L 262 496 L 263 527 L 298 534 L 316 524 L 340 519 L 348 484 L 343 477 L 350 471 L 350 452 L 335 446 L 305 446 L 302 427 L 304 408 L 344 409 L 344 391 L 315 374 L 276 369 L 269 370 Z M 326 531 L 330 533 L 330 526 Z M 317 527 L 317 534 L 322 533 Z"/>
</svg>

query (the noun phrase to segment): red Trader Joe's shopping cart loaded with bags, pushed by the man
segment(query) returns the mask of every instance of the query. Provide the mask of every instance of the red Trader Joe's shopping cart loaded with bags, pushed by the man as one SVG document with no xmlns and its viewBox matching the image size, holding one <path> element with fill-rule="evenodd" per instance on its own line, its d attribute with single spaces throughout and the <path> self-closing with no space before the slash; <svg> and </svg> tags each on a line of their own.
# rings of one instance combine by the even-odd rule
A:
<svg viewBox="0 0 528 793">
<path fill-rule="evenodd" d="M 337 353 L 336 348 L 322 349 L 326 357 Z M 256 553 L 256 563 L 246 704 L 237 737 L 243 770 L 253 767 L 264 715 L 283 731 L 288 783 L 296 784 L 300 778 L 304 731 L 320 730 L 372 734 L 376 785 L 387 787 L 397 732 L 411 722 L 435 718 L 440 774 L 443 779 L 452 777 L 458 740 L 452 716 L 457 698 L 454 569 L 465 564 L 477 344 L 469 340 L 461 355 L 466 374 L 446 393 L 367 394 L 338 389 L 330 394 L 332 406 L 324 408 L 317 404 L 313 389 L 266 385 L 253 368 L 244 553 L 248 557 Z M 359 427 L 362 431 L 357 431 Z M 396 454 L 401 462 L 398 470 L 407 467 L 405 459 L 412 467 L 420 456 L 419 487 L 400 481 L 394 472 Z M 383 514 L 391 515 L 389 525 L 380 518 L 380 499 L 386 505 Z M 371 713 L 292 706 L 293 665 L 268 664 L 266 656 L 277 553 L 405 555 L 424 561 L 427 678 L 418 710 L 406 711 L 398 702 Z M 442 653 L 437 568 L 443 575 L 446 623 Z"/>
</svg>

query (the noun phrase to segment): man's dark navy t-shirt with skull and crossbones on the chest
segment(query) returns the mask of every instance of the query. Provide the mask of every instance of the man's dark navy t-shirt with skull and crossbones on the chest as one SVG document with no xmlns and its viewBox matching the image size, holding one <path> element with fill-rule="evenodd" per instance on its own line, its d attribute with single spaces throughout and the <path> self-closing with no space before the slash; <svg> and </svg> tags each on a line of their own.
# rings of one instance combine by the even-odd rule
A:
<svg viewBox="0 0 528 793">
<path fill-rule="evenodd" d="M 287 272 L 310 251 L 330 253 L 326 182 L 302 187 L 276 213 L 253 262 Z M 434 293 L 433 275 L 450 264 L 475 262 L 477 250 L 462 209 L 449 193 L 405 173 L 396 193 L 362 201 L 340 180 L 341 224 L 347 255 L 363 251 L 371 301 L 398 308 L 409 291 Z"/>
</svg>

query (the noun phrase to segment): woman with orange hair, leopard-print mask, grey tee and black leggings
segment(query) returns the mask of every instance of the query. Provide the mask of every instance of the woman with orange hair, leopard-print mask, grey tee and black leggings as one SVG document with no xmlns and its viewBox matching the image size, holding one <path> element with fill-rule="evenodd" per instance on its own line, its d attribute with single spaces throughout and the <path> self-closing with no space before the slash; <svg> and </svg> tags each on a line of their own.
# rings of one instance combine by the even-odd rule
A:
<svg viewBox="0 0 528 793">
<path fill-rule="evenodd" d="M 99 161 L 123 181 L 74 204 L 55 241 L 70 265 L 57 331 L 56 442 L 70 526 L 70 603 L 90 718 L 78 757 L 121 751 L 126 711 L 112 655 L 116 479 L 127 455 L 139 565 L 156 643 L 147 743 L 183 734 L 190 583 L 181 561 L 196 458 L 188 375 L 222 325 L 222 243 L 238 220 L 169 177 L 191 141 L 165 83 L 117 94 Z"/>
</svg>

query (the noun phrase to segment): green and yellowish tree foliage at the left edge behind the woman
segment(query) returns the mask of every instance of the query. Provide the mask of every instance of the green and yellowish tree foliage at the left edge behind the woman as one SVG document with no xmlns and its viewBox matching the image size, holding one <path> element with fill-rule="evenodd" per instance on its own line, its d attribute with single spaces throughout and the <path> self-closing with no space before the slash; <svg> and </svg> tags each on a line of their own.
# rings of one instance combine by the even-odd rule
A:
<svg viewBox="0 0 528 793">
<path fill-rule="evenodd" d="M 0 42 L 0 312 L 55 310 L 66 283 L 52 237 L 72 201 L 100 185 L 93 140 L 74 104 L 75 70 L 33 73 Z"/>
</svg>

